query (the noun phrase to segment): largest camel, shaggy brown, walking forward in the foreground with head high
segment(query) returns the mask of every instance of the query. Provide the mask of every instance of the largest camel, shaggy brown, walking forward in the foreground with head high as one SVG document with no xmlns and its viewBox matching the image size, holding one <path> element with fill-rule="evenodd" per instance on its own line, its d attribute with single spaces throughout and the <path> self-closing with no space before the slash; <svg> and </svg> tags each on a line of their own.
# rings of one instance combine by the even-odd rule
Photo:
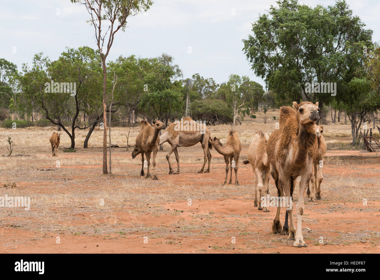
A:
<svg viewBox="0 0 380 280">
<path fill-rule="evenodd" d="M 294 108 L 294 109 L 293 109 Z M 273 233 L 287 234 L 289 240 L 294 240 L 294 247 L 307 247 L 302 236 L 302 215 L 304 213 L 304 195 L 307 183 L 312 177 L 313 162 L 318 155 L 318 140 L 313 127 L 320 118 L 318 102 L 293 102 L 293 108 L 280 108 L 280 127 L 269 137 L 267 155 L 271 167 L 271 175 L 277 187 L 277 196 L 285 195 L 287 211 L 285 224 L 280 223 L 280 206 L 273 220 Z M 297 229 L 293 224 L 294 180 L 301 176 L 299 199 L 296 205 Z M 288 226 L 288 218 L 290 226 Z"/>
</svg>

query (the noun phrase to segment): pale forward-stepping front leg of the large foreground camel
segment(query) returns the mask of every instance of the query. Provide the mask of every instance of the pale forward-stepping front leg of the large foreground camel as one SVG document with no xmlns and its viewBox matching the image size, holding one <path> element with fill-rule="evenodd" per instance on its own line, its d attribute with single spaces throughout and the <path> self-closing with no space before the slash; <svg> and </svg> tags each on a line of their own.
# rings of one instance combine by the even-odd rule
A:
<svg viewBox="0 0 380 280">
<path fill-rule="evenodd" d="M 305 209 L 305 190 L 310 177 L 312 177 L 312 169 L 310 168 L 309 170 L 303 170 L 301 173 L 301 182 L 299 184 L 299 199 L 297 202 L 297 231 L 296 240 L 293 243 L 294 247 L 307 247 L 307 244 L 304 242 L 304 238 L 302 236 L 302 215 Z"/>
</svg>

